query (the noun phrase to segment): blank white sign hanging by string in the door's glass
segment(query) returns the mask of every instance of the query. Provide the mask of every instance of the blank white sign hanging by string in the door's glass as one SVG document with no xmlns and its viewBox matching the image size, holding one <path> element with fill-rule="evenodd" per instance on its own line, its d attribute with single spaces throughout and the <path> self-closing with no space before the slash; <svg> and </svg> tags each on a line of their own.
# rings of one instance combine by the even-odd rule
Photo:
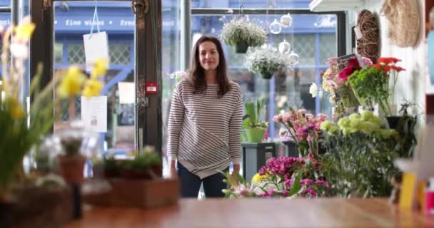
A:
<svg viewBox="0 0 434 228">
<path fill-rule="evenodd" d="M 86 71 L 92 71 L 94 63 L 99 58 L 103 58 L 109 64 L 109 40 L 107 33 L 91 33 L 83 35 L 84 56 L 86 57 Z"/>
</svg>

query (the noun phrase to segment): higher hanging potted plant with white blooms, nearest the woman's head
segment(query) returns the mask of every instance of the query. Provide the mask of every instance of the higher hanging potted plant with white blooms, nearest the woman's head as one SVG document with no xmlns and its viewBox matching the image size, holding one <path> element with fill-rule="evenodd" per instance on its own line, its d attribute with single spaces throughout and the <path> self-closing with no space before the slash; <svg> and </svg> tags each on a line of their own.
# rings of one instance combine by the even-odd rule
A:
<svg viewBox="0 0 434 228">
<path fill-rule="evenodd" d="M 246 53 L 249 46 L 261 46 L 268 41 L 263 28 L 242 16 L 223 25 L 221 39 L 226 45 L 236 46 L 236 53 Z"/>
</svg>

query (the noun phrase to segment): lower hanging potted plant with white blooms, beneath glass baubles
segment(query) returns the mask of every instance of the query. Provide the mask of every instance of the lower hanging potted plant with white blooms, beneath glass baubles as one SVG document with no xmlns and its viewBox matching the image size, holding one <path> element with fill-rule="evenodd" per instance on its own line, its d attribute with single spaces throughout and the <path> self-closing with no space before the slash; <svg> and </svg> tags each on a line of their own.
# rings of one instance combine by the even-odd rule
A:
<svg viewBox="0 0 434 228">
<path fill-rule="evenodd" d="M 278 70 L 290 68 L 288 56 L 271 46 L 248 51 L 245 64 L 249 71 L 261 74 L 264 79 L 270 79 Z"/>
</svg>

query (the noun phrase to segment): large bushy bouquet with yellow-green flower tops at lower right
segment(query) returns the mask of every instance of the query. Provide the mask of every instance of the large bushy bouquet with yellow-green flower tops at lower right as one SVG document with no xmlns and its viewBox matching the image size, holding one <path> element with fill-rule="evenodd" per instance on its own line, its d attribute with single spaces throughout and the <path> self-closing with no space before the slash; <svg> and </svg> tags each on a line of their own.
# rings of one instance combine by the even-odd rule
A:
<svg viewBox="0 0 434 228">
<path fill-rule="evenodd" d="M 370 111 L 340 118 L 335 125 L 321 124 L 325 154 L 325 175 L 341 197 L 385 197 L 396 168 L 399 134 L 383 128 L 383 121 Z"/>
</svg>

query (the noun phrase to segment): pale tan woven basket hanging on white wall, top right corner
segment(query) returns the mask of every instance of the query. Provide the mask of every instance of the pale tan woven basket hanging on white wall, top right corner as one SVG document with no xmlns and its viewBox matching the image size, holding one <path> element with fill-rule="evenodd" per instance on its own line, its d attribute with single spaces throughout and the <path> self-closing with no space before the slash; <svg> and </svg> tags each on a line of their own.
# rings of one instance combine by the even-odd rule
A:
<svg viewBox="0 0 434 228">
<path fill-rule="evenodd" d="M 390 43 L 402 48 L 414 46 L 420 32 L 418 0 L 385 0 L 381 12 L 389 22 Z"/>
</svg>

